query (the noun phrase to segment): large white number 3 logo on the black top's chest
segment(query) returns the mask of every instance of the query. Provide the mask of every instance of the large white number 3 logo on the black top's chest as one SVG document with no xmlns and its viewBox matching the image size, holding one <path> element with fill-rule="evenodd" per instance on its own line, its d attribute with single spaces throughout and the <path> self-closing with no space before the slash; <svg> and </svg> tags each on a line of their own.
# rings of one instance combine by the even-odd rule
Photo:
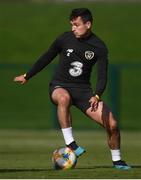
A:
<svg viewBox="0 0 141 180">
<path fill-rule="evenodd" d="M 80 76 L 82 74 L 83 64 L 81 62 L 74 61 L 71 63 L 71 66 L 72 66 L 72 68 L 69 69 L 69 73 L 71 76 L 77 77 L 77 76 Z"/>
</svg>

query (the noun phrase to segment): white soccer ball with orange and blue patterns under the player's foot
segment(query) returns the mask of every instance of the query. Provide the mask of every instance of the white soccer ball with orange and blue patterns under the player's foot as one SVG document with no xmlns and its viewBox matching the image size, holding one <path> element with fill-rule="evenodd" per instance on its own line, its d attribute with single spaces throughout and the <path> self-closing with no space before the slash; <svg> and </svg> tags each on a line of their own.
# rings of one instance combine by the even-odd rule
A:
<svg viewBox="0 0 141 180">
<path fill-rule="evenodd" d="M 72 169 L 77 163 L 77 157 L 73 150 L 68 147 L 56 149 L 53 152 L 52 162 L 54 169 Z"/>
</svg>

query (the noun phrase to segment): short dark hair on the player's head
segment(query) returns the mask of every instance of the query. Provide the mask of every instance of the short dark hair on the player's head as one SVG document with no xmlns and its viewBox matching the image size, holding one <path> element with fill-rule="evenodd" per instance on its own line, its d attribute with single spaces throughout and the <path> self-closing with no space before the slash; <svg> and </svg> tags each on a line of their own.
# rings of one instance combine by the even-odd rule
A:
<svg viewBox="0 0 141 180">
<path fill-rule="evenodd" d="M 77 18 L 78 16 L 82 18 L 84 23 L 86 23 L 87 21 L 90 21 L 91 23 L 93 22 L 92 14 L 87 8 L 73 9 L 70 14 L 70 21 Z"/>
</svg>

